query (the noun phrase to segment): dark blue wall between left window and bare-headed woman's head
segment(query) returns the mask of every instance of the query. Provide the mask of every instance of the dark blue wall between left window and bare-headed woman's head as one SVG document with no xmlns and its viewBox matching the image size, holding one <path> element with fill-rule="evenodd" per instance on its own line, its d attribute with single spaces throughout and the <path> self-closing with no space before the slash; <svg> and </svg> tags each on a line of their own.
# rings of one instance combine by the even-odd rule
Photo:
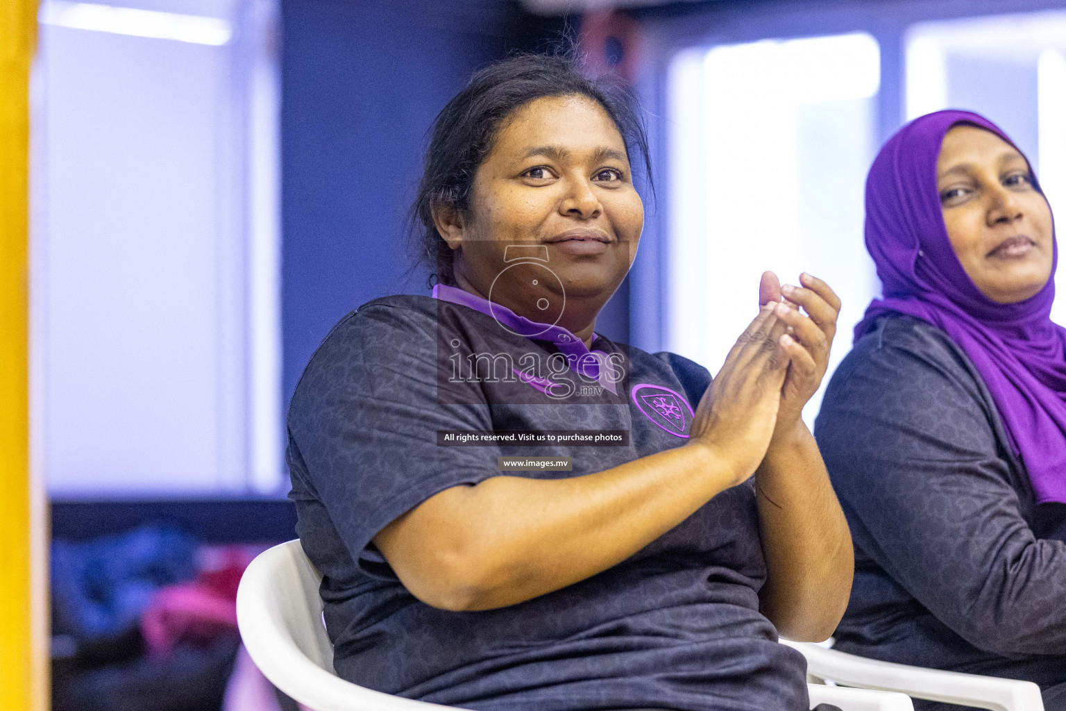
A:
<svg viewBox="0 0 1066 711">
<path fill-rule="evenodd" d="M 558 36 L 511 2 L 285 0 L 281 224 L 285 406 L 329 328 L 360 304 L 429 293 L 404 221 L 426 131 L 471 71 Z"/>
</svg>

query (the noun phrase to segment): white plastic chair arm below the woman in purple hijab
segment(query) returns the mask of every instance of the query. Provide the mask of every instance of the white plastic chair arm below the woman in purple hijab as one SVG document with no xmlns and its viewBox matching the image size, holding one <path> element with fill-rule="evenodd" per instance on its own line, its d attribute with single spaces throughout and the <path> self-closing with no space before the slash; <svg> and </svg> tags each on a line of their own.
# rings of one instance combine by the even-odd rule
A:
<svg viewBox="0 0 1066 711">
<path fill-rule="evenodd" d="M 898 691 L 916 698 L 994 711 L 1044 711 L 1040 688 L 1032 681 L 893 664 L 822 645 L 784 639 L 781 642 L 807 658 L 808 678 L 845 686 Z"/>
</svg>

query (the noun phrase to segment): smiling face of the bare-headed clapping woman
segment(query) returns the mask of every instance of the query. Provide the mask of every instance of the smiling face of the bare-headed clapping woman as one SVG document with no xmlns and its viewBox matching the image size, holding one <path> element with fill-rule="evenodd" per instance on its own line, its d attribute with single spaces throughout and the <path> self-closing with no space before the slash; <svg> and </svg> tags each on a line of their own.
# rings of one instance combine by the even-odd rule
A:
<svg viewBox="0 0 1066 711">
<path fill-rule="evenodd" d="M 516 110 L 478 168 L 467 213 L 436 216 L 459 286 L 574 327 L 625 278 L 644 206 L 614 122 L 587 97 L 562 96 Z"/>
</svg>

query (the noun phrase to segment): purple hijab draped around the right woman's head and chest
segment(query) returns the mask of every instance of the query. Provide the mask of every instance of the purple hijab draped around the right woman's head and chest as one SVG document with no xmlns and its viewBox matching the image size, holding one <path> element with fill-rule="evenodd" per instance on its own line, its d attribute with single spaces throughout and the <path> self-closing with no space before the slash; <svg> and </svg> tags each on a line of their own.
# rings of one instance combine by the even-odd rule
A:
<svg viewBox="0 0 1066 711">
<path fill-rule="evenodd" d="M 1037 503 L 1066 503 L 1066 328 L 1050 318 L 1059 248 L 1051 278 L 1023 302 L 997 304 L 973 285 L 948 240 L 937 189 L 940 144 L 960 123 L 1014 145 L 983 116 L 938 111 L 900 129 L 870 168 L 866 244 L 884 297 L 870 303 L 855 338 L 890 312 L 927 321 L 947 333 L 988 386 Z"/>
</svg>

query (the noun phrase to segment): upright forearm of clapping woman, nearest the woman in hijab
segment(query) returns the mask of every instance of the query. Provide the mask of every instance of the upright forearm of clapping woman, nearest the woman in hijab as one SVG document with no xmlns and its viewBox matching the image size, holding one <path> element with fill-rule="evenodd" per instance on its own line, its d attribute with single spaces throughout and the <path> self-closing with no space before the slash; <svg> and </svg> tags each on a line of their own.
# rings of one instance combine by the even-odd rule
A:
<svg viewBox="0 0 1066 711">
<path fill-rule="evenodd" d="M 854 552 L 822 456 L 802 421 L 775 434 L 755 484 L 766 559 L 761 610 L 789 639 L 825 640 L 847 607 Z"/>
</svg>

